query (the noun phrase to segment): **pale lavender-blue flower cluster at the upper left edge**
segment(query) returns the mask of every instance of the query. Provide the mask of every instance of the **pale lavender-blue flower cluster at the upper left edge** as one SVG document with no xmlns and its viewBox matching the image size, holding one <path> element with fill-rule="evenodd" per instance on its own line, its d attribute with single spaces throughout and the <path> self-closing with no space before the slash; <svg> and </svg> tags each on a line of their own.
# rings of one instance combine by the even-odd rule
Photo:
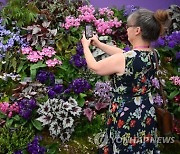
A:
<svg viewBox="0 0 180 154">
<path fill-rule="evenodd" d="M 20 29 L 13 27 L 13 31 L 6 29 L 3 25 L 3 19 L 0 19 L 0 50 L 6 52 L 9 48 L 19 44 L 20 46 L 26 46 L 24 39 L 20 35 Z M 4 56 L 4 55 L 0 55 Z"/>
</svg>

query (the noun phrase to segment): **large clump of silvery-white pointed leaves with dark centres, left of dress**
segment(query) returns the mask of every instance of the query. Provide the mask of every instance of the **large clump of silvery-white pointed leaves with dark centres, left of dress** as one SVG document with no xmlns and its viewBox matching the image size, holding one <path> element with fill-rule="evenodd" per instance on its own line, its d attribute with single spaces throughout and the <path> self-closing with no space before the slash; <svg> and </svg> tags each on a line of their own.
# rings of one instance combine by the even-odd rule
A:
<svg viewBox="0 0 180 154">
<path fill-rule="evenodd" d="M 42 125 L 48 125 L 52 137 L 60 137 L 65 142 L 68 141 L 74 131 L 74 119 L 79 116 L 82 109 L 73 98 L 67 101 L 63 99 L 48 99 L 42 105 L 39 104 L 37 111 L 41 116 L 37 118 Z"/>
</svg>

